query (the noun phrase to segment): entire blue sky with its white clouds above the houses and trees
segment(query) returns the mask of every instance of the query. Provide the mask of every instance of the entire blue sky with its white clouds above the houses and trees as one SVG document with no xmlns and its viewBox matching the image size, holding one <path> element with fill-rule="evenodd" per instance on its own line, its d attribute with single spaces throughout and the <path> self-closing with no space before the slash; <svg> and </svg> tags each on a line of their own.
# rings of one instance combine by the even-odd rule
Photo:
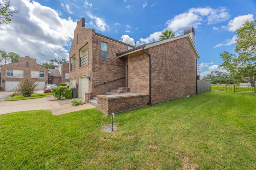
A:
<svg viewBox="0 0 256 170">
<path fill-rule="evenodd" d="M 68 59 L 76 22 L 136 46 L 158 41 L 165 29 L 177 36 L 194 27 L 201 77 L 223 71 L 220 53 L 234 53 L 235 34 L 255 20 L 255 0 L 12 0 L 20 14 L 0 26 L 0 49 L 44 63 Z"/>
</svg>

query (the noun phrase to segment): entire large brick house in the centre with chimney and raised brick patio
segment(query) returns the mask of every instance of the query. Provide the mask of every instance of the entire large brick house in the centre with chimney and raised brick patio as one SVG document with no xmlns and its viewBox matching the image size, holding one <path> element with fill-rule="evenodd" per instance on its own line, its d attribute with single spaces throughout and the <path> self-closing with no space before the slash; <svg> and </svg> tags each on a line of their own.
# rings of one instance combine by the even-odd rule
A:
<svg viewBox="0 0 256 170">
<path fill-rule="evenodd" d="M 70 87 L 106 114 L 197 93 L 194 28 L 134 47 L 77 22 L 69 53 Z M 97 98 L 96 98 L 97 97 Z"/>
</svg>

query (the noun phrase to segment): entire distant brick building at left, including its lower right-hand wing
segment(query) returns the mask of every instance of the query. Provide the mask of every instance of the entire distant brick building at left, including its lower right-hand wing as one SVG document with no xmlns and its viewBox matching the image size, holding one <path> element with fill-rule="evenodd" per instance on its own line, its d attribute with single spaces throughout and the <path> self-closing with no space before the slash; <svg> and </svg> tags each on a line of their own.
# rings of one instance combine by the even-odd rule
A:
<svg viewBox="0 0 256 170">
<path fill-rule="evenodd" d="M 14 91 L 15 87 L 24 78 L 36 78 L 38 90 L 43 90 L 46 84 L 69 84 L 69 63 L 62 63 L 56 69 L 47 69 L 36 63 L 36 59 L 28 56 L 19 57 L 17 62 L 1 65 L 0 86 L 2 91 Z"/>
</svg>

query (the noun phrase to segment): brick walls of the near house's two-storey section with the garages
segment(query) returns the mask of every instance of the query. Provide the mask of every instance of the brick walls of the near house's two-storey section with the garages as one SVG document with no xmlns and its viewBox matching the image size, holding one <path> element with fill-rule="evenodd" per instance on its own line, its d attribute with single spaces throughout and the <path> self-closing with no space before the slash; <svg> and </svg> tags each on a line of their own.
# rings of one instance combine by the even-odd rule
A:
<svg viewBox="0 0 256 170">
<path fill-rule="evenodd" d="M 76 44 L 77 34 L 78 44 Z M 107 61 L 101 59 L 101 42 L 108 43 Z M 88 43 L 88 64 L 79 67 L 79 50 L 86 43 Z M 76 69 L 70 71 L 70 79 L 76 78 L 76 83 L 78 83 L 79 77 L 89 76 L 91 71 L 92 77 L 91 81 L 89 81 L 89 92 L 92 93 L 92 97 L 96 97 L 98 94 L 104 94 L 110 89 L 125 87 L 125 79 L 120 79 L 94 88 L 95 85 L 100 83 L 112 81 L 125 76 L 125 59 L 116 57 L 116 53 L 125 50 L 125 44 L 104 38 L 103 36 L 95 35 L 94 30 L 82 28 L 82 22 L 78 22 L 77 28 L 74 31 L 74 40 L 69 53 L 70 64 L 71 57 L 73 55 L 76 56 Z"/>
</svg>

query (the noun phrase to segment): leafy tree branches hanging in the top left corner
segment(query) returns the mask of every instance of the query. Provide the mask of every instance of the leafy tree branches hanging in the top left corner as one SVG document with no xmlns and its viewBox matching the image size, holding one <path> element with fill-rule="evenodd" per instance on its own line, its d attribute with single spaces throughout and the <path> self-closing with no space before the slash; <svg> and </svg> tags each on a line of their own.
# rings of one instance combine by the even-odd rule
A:
<svg viewBox="0 0 256 170">
<path fill-rule="evenodd" d="M 0 25 L 5 23 L 10 23 L 11 19 L 10 16 L 15 16 L 14 14 L 18 14 L 19 10 L 10 8 L 10 1 L 9 0 L 2 0 L 0 3 Z"/>
</svg>

